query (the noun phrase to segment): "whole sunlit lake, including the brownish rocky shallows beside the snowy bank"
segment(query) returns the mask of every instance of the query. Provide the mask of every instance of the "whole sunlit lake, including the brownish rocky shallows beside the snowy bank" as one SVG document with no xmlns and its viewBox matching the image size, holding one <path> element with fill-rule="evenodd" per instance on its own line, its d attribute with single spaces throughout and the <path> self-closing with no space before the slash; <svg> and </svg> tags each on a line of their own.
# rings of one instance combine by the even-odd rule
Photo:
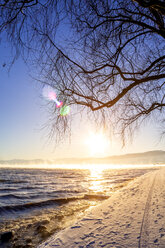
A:
<svg viewBox="0 0 165 248">
<path fill-rule="evenodd" d="M 0 234 L 14 233 L 10 243 L 0 247 L 27 247 L 29 240 L 30 247 L 36 247 L 89 207 L 153 169 L 0 168 Z"/>
</svg>

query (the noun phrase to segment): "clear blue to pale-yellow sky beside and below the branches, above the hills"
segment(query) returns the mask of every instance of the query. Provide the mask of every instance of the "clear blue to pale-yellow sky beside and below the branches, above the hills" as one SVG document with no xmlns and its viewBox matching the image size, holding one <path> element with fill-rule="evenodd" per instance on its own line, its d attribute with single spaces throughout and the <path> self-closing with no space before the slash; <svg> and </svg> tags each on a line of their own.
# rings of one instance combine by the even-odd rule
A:
<svg viewBox="0 0 165 248">
<path fill-rule="evenodd" d="M 48 109 L 41 86 L 30 77 L 30 70 L 21 58 L 8 72 L 11 61 L 8 44 L 0 44 L 0 54 L 0 159 L 89 157 L 85 140 L 92 129 L 90 124 L 77 120 L 71 143 L 66 139 L 57 146 L 48 141 L 46 130 L 42 130 L 48 121 Z M 159 127 L 149 122 L 124 149 L 119 140 L 110 139 L 102 155 L 164 150 L 165 141 L 159 142 L 159 134 Z"/>
</svg>

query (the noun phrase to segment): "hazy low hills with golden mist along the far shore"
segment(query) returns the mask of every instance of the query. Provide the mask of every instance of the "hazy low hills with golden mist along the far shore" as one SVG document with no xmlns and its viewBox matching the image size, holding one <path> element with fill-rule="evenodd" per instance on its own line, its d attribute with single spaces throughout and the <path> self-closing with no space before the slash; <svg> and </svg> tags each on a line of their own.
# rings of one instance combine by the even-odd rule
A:
<svg viewBox="0 0 165 248">
<path fill-rule="evenodd" d="M 143 153 L 130 153 L 104 158 L 65 158 L 54 160 L 0 160 L 1 165 L 37 165 L 37 164 L 165 164 L 165 151 L 148 151 Z"/>
</svg>

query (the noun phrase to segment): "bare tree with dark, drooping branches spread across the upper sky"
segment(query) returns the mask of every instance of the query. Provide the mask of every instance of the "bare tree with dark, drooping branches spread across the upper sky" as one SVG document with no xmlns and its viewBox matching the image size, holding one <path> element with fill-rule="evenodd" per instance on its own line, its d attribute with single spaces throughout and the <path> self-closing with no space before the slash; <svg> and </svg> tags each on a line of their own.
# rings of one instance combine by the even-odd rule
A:
<svg viewBox="0 0 165 248">
<path fill-rule="evenodd" d="M 16 47 L 33 51 L 39 80 L 52 85 L 64 102 L 94 113 L 99 123 L 110 120 L 123 140 L 146 117 L 163 120 L 163 0 L 17 2 L 0 5 L 1 30 Z M 58 38 L 59 30 L 67 33 L 65 39 Z M 66 127 L 64 118 L 53 116 L 56 128 L 59 120 Z"/>
</svg>

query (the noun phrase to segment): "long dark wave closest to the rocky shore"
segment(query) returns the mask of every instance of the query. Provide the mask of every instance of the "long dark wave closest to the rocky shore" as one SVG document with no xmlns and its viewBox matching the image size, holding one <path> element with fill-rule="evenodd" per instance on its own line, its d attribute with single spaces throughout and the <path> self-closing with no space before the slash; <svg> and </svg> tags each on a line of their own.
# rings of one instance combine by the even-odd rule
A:
<svg viewBox="0 0 165 248">
<path fill-rule="evenodd" d="M 72 201 L 77 201 L 77 200 L 105 200 L 109 198 L 108 196 L 105 195 L 90 195 L 90 194 L 85 194 L 80 197 L 68 197 L 68 198 L 56 198 L 56 199 L 49 199 L 46 201 L 40 201 L 40 202 L 30 202 L 26 204 L 18 204 L 18 205 L 8 205 L 8 206 L 3 206 L 0 207 L 0 214 L 6 213 L 6 212 L 13 212 L 13 211 L 22 211 L 22 210 L 27 210 L 27 209 L 32 209 L 32 208 L 42 208 L 46 206 L 59 206 L 63 204 L 67 204 Z"/>
</svg>

